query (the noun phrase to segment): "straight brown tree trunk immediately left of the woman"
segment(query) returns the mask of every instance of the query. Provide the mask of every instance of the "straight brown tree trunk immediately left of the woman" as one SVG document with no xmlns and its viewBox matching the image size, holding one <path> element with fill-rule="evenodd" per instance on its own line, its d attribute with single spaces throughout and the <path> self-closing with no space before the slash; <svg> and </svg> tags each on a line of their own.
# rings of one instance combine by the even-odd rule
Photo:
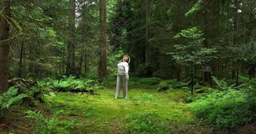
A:
<svg viewBox="0 0 256 134">
<path fill-rule="evenodd" d="M 106 0 L 100 0 L 100 60 L 98 74 L 100 78 L 106 78 Z"/>
</svg>

